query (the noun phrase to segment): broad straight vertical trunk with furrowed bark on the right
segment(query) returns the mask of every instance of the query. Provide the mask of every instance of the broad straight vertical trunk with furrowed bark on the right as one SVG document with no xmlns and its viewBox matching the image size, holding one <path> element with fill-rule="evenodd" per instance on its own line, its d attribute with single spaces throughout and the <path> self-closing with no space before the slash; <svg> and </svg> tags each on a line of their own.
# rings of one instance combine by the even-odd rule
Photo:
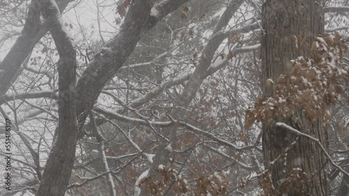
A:
<svg viewBox="0 0 349 196">
<path fill-rule="evenodd" d="M 314 36 L 324 31 L 323 5 L 323 0 L 267 0 L 263 4 L 263 97 L 272 97 L 274 91 L 265 81 L 276 82 L 281 74 L 287 76 L 292 67 L 290 60 L 310 56 Z M 306 42 L 299 42 L 296 47 L 294 35 Z M 263 124 L 265 167 L 272 177 L 269 195 L 329 195 L 326 158 L 321 149 L 314 142 L 279 128 L 276 122 L 285 122 L 318 138 L 323 145 L 326 136 L 321 120 L 310 122 L 300 109 L 291 117 L 276 116 L 269 124 Z"/>
</svg>

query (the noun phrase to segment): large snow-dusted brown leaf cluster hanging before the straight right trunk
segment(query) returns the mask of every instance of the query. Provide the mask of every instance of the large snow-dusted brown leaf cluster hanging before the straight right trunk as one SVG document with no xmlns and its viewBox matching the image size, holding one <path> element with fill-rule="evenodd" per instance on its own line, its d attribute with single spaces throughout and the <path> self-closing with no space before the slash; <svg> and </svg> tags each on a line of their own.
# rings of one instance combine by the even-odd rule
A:
<svg viewBox="0 0 349 196">
<path fill-rule="evenodd" d="M 339 33 L 324 33 L 314 39 L 311 58 L 299 57 L 292 60 L 290 74 L 281 75 L 274 84 L 273 97 L 259 98 L 255 106 L 246 111 L 246 129 L 252 124 L 268 124 L 276 115 L 288 117 L 297 109 L 304 111 L 312 122 L 322 117 L 323 122 L 331 120 L 327 106 L 336 104 L 343 89 L 339 83 L 348 85 L 349 69 L 343 67 L 343 52 L 348 52 L 346 42 Z"/>
</svg>

